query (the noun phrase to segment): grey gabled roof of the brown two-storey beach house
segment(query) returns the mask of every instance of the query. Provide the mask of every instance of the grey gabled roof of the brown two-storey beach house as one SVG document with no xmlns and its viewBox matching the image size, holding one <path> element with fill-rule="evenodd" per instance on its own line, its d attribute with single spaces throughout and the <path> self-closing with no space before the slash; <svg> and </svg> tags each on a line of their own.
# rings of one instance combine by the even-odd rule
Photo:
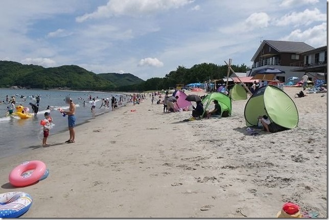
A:
<svg viewBox="0 0 329 220">
<path fill-rule="evenodd" d="M 279 53 L 300 53 L 303 51 L 313 50 L 314 47 L 304 42 L 298 41 L 283 41 L 283 40 L 263 40 L 258 47 L 256 53 L 253 55 L 251 61 L 255 61 L 257 55 L 262 51 L 265 44 L 270 45 Z"/>
</svg>

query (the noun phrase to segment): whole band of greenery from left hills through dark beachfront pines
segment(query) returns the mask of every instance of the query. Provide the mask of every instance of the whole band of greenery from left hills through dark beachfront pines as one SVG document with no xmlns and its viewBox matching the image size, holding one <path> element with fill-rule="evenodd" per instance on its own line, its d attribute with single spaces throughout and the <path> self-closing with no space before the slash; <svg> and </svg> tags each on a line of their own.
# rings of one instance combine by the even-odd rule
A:
<svg viewBox="0 0 329 220">
<path fill-rule="evenodd" d="M 245 64 L 232 65 L 236 72 L 246 72 Z M 69 88 L 102 91 L 146 91 L 176 87 L 207 80 L 222 79 L 227 74 L 226 65 L 213 63 L 196 64 L 191 68 L 178 66 L 163 78 L 143 81 L 132 74 L 95 74 L 76 65 L 44 68 L 38 65 L 23 65 L 12 61 L 0 61 L 0 87 L 20 86 L 25 88 Z"/>
</svg>

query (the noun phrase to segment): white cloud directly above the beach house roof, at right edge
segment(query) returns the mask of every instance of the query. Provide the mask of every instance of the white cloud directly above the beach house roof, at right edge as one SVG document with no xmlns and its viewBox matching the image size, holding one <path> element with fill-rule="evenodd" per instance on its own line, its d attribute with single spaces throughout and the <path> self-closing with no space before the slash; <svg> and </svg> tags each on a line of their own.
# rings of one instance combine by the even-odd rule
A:
<svg viewBox="0 0 329 220">
<path fill-rule="evenodd" d="M 326 45 L 326 27 L 326 23 L 323 22 L 321 25 L 314 26 L 305 31 L 297 29 L 288 36 L 281 38 L 281 40 L 303 41 L 314 47 L 323 46 Z"/>
</svg>

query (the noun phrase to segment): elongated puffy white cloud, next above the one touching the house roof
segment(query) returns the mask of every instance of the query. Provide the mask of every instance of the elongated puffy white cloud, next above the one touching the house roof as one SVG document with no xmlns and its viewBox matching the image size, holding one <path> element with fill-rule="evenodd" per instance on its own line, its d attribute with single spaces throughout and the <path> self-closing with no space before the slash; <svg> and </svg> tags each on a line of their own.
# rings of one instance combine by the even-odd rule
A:
<svg viewBox="0 0 329 220">
<path fill-rule="evenodd" d="M 291 14 L 286 14 L 274 23 L 276 26 L 289 26 L 295 25 L 295 27 L 300 25 L 310 25 L 315 21 L 326 21 L 326 14 L 321 13 L 319 9 L 314 10 L 306 9 L 303 12 L 292 12 Z"/>
</svg>

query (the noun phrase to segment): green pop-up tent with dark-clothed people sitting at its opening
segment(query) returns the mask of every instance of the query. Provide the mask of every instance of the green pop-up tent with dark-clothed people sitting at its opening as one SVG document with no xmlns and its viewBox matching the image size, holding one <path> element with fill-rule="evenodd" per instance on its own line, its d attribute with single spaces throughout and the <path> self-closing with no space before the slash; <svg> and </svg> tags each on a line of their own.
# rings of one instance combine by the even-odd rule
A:
<svg viewBox="0 0 329 220">
<path fill-rule="evenodd" d="M 204 115 L 204 113 L 207 110 L 208 106 L 214 100 L 218 101 L 218 104 L 222 108 L 222 112 L 228 110 L 229 114 L 231 114 L 232 104 L 231 104 L 230 97 L 223 94 L 223 93 L 221 93 L 221 92 L 212 92 L 212 93 L 207 94 L 202 100 L 202 104 L 205 105 L 204 112 L 203 112 L 202 115 Z"/>
</svg>

